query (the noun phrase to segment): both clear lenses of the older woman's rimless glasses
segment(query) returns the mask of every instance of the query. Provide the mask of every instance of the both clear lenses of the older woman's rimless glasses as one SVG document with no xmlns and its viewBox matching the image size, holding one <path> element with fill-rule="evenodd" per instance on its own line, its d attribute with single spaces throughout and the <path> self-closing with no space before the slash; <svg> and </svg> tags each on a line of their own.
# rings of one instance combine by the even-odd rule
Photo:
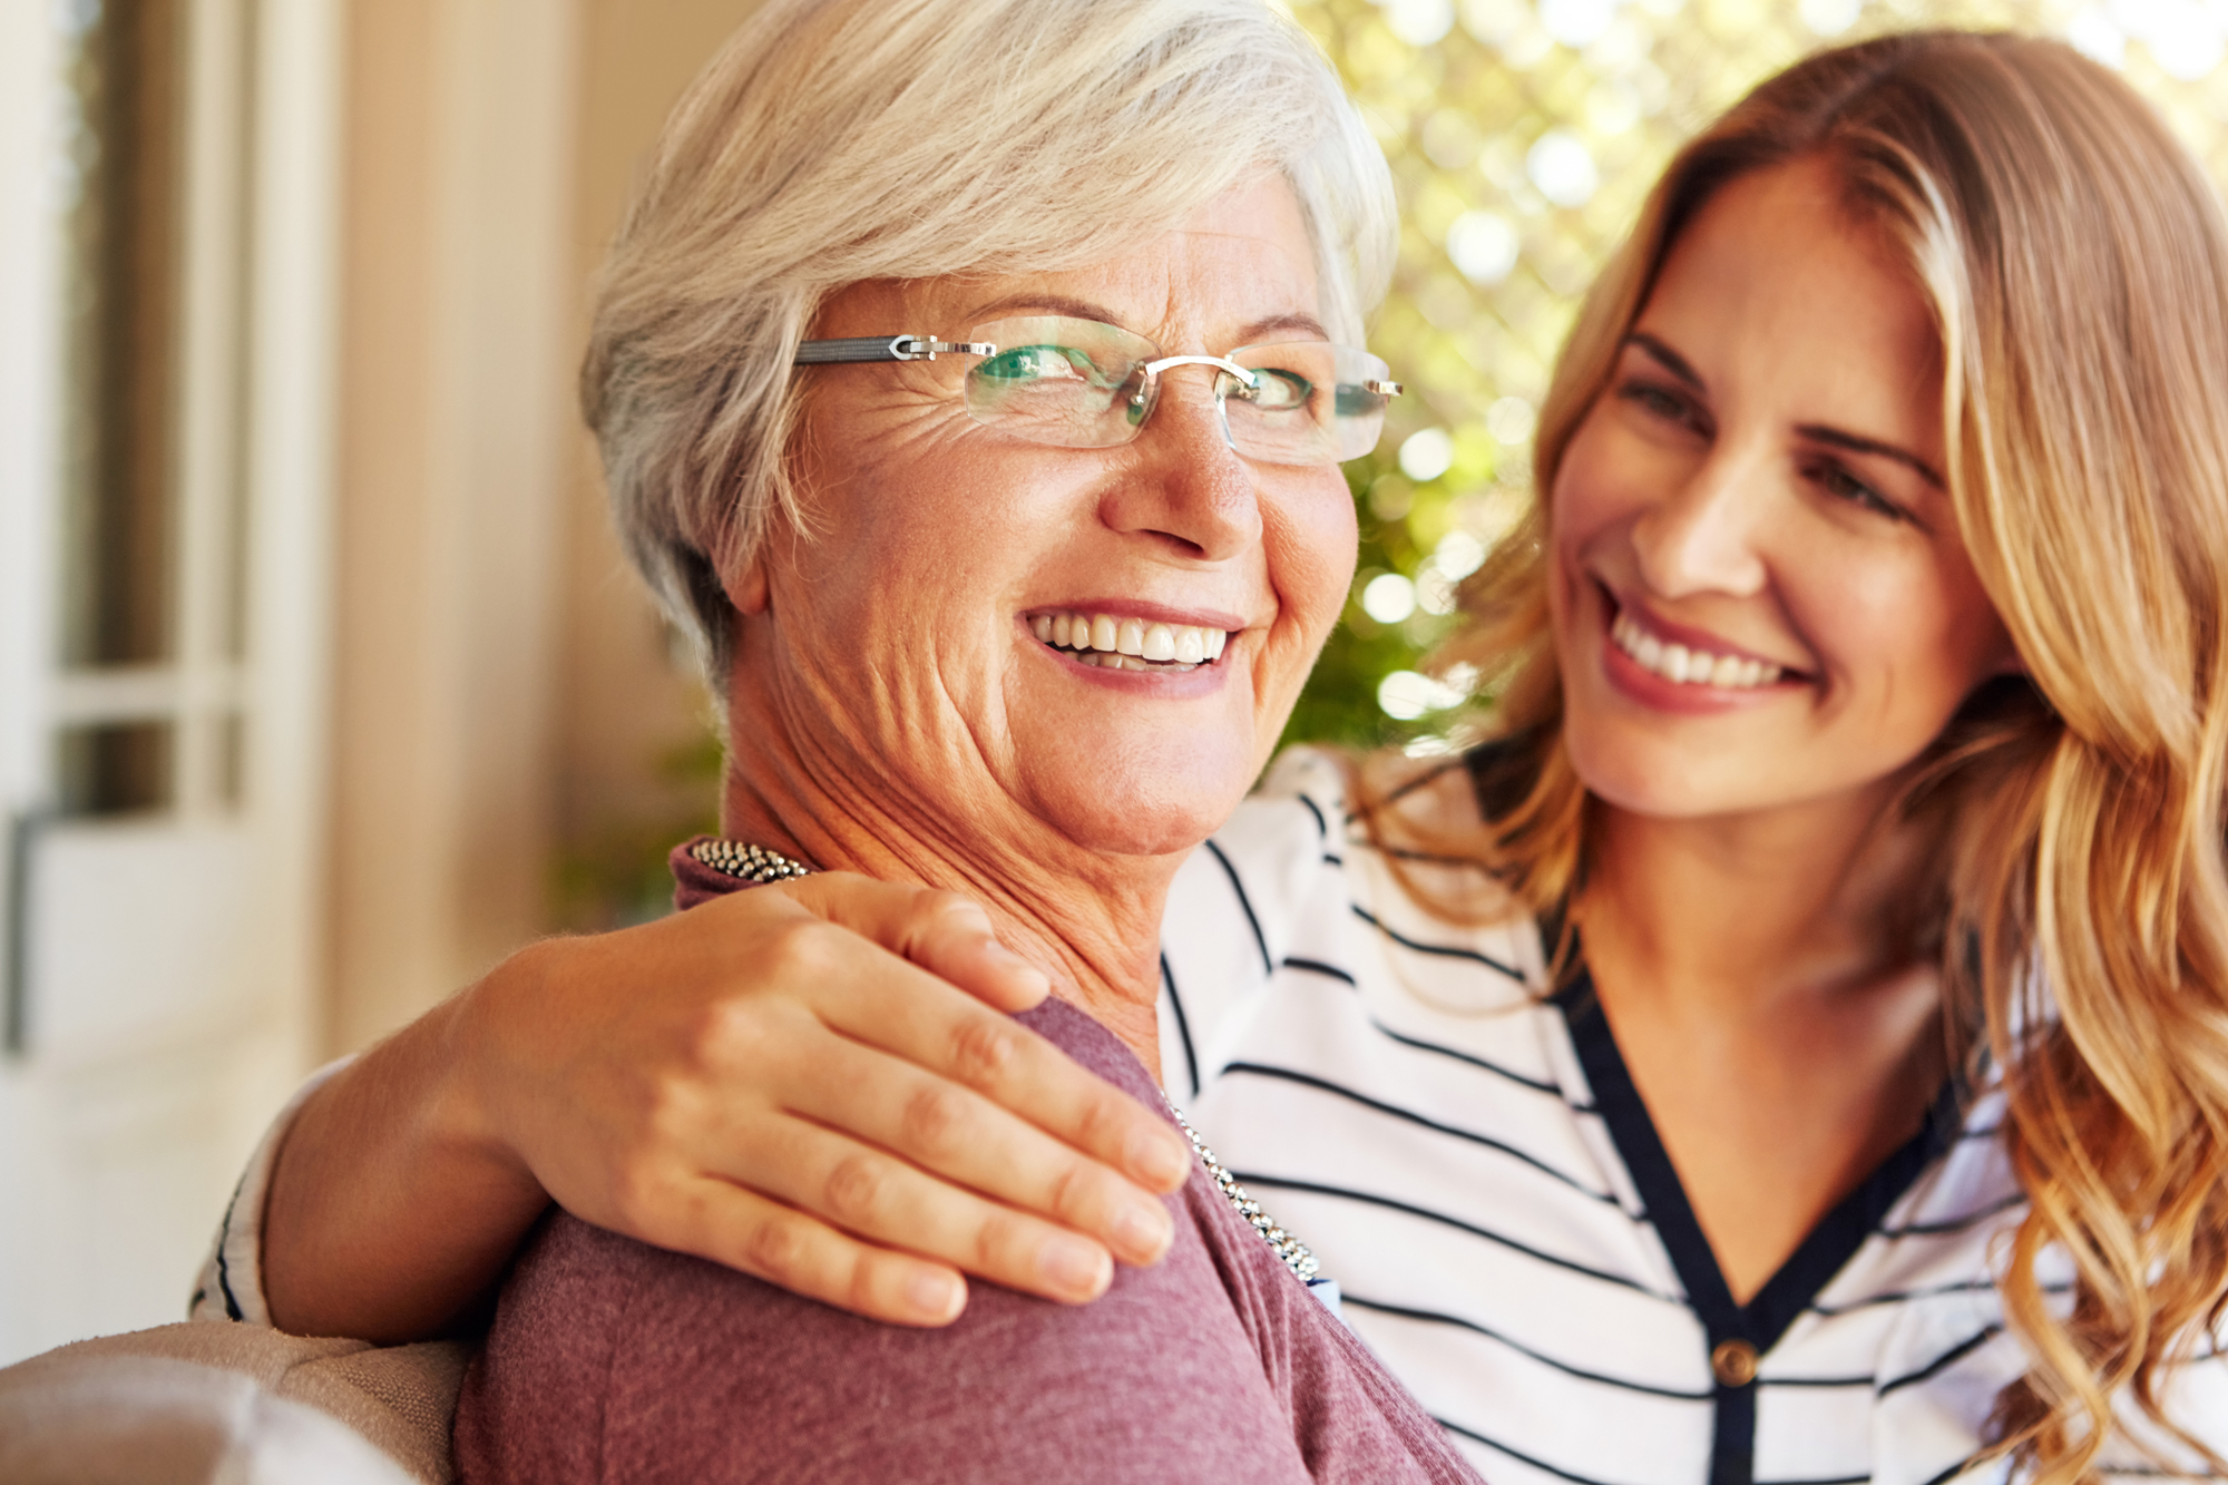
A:
<svg viewBox="0 0 2228 1485">
<path fill-rule="evenodd" d="M 1139 435 L 1161 397 L 1163 377 L 1145 366 L 1161 348 L 1121 326 L 1058 314 L 998 319 L 967 332 L 998 355 L 967 370 L 967 415 L 989 428 L 1052 448 L 1112 448 Z M 1252 372 L 1212 375 L 1230 446 L 1263 464 L 1339 464 L 1377 446 L 1386 397 L 1370 381 L 1386 363 L 1328 341 L 1241 346 L 1221 359 Z"/>
</svg>

